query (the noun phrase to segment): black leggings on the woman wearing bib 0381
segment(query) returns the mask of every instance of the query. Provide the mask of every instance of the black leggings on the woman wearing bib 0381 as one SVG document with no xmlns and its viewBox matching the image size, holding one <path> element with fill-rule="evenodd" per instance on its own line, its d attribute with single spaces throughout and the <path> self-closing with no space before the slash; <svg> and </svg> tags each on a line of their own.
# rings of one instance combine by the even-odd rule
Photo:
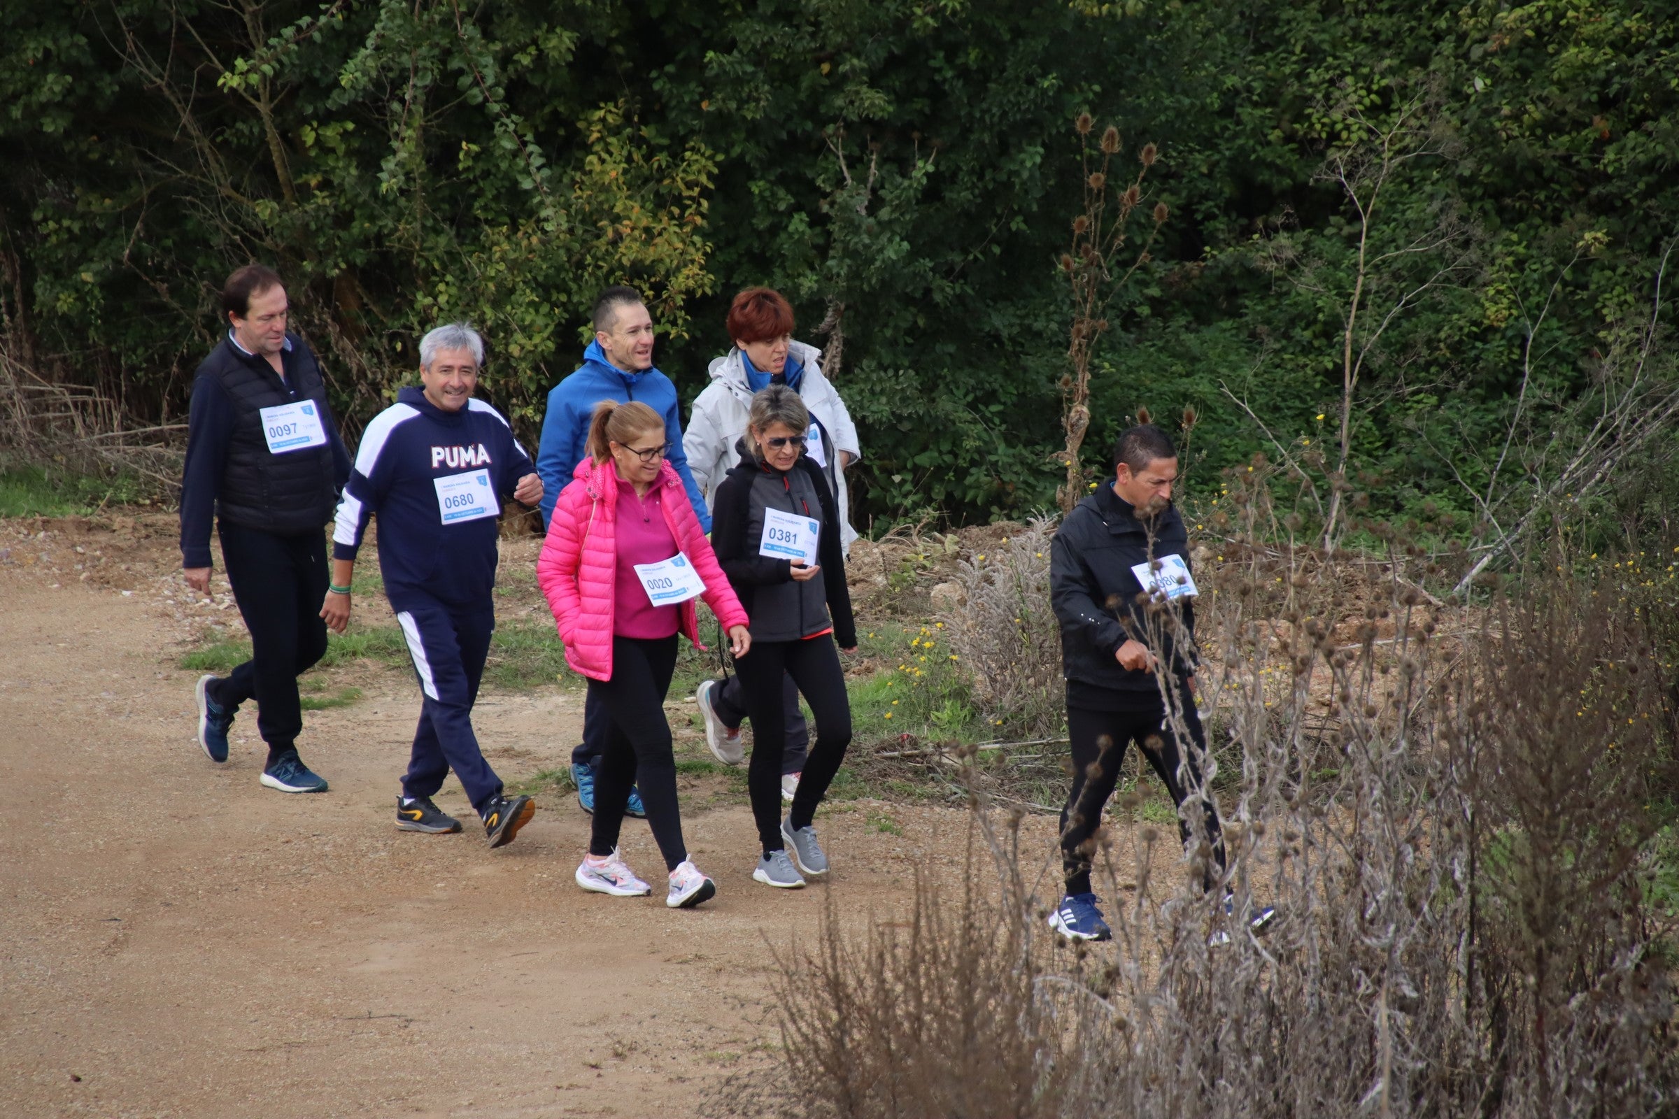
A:
<svg viewBox="0 0 1679 1119">
<path fill-rule="evenodd" d="M 845 695 L 845 669 L 829 634 L 808 641 L 754 641 L 752 651 L 735 659 L 735 673 L 752 718 L 752 765 L 745 777 L 752 819 L 757 820 L 757 841 L 769 854 L 787 846 L 781 839 L 781 753 L 787 726 L 781 678 L 792 676 L 816 716 L 816 745 L 804 762 L 789 814 L 796 829 L 809 827 L 816 805 L 845 762 L 845 748 L 851 745 L 851 701 Z"/>
</svg>

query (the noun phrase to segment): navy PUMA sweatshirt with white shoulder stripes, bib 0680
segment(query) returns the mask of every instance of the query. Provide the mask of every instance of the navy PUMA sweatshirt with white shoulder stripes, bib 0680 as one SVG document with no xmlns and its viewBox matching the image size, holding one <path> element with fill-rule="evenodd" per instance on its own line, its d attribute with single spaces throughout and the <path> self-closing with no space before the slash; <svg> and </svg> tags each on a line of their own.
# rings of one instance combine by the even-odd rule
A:
<svg viewBox="0 0 1679 1119">
<path fill-rule="evenodd" d="M 368 518 L 379 515 L 384 597 L 398 609 L 405 591 L 490 609 L 500 527 L 495 517 L 443 523 L 437 478 L 487 470 L 490 490 L 510 498 L 534 470 L 502 414 L 480 399 L 460 411 L 437 408 L 405 388 L 361 433 L 356 468 L 337 503 L 332 557 L 356 559 Z"/>
</svg>

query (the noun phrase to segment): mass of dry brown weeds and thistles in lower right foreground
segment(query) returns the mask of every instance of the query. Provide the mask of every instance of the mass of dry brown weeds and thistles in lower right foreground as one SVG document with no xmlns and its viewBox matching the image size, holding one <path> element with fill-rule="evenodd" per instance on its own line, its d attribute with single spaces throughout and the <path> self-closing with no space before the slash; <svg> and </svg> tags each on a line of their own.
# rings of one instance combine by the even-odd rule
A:
<svg viewBox="0 0 1679 1119">
<path fill-rule="evenodd" d="M 761 1111 L 1676 1112 L 1674 929 L 1640 877 L 1672 745 L 1649 602 L 1545 565 L 1446 612 L 1404 555 L 1295 549 L 1268 487 L 1232 488 L 1197 570 L 1222 879 L 1123 799 L 1096 851 L 1115 938 L 1063 946 L 1059 851 L 975 794 L 989 862 L 922 879 L 902 929 L 831 914 L 784 960 Z M 1251 903 L 1278 908 L 1264 938 Z"/>
</svg>

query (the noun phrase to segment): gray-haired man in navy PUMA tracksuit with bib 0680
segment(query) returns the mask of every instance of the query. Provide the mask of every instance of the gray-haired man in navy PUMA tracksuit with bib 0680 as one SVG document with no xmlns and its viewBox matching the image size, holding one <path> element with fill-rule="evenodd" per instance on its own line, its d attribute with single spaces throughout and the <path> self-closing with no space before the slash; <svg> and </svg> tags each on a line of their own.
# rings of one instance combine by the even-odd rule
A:
<svg viewBox="0 0 1679 1119">
<path fill-rule="evenodd" d="M 337 507 L 321 617 L 334 632 L 349 626 L 356 552 L 378 513 L 384 596 L 425 695 L 396 827 L 458 832 L 460 824 L 432 802 L 455 770 L 490 847 L 500 847 L 536 804 L 504 794 L 472 731 L 472 705 L 495 629 L 499 498 L 536 505 L 542 480 L 502 414 L 473 399 L 482 366 L 484 339 L 463 322 L 420 341 L 421 388 L 401 389 L 361 433 Z"/>
</svg>

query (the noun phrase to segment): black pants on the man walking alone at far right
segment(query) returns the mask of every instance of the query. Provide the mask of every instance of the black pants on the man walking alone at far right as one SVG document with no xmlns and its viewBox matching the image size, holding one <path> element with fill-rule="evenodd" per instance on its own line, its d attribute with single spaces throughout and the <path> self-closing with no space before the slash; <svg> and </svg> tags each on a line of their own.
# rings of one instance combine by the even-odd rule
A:
<svg viewBox="0 0 1679 1119">
<path fill-rule="evenodd" d="M 1189 797 L 1187 785 L 1200 787 L 1200 768 L 1195 765 L 1195 753 L 1207 747 L 1206 731 L 1200 728 L 1200 716 L 1195 705 L 1184 698 L 1184 726 L 1195 740 L 1195 752 L 1185 758 L 1177 735 L 1167 723 L 1165 710 L 1153 711 L 1086 711 L 1083 708 L 1066 710 L 1066 735 L 1073 745 L 1073 790 L 1061 809 L 1061 869 L 1066 874 L 1066 893 L 1090 893 L 1090 861 L 1095 854 L 1090 844 L 1091 834 L 1101 825 L 1101 809 L 1113 795 L 1113 785 L 1120 780 L 1120 765 L 1125 762 L 1125 748 L 1137 743 L 1153 772 L 1165 782 L 1172 794 L 1172 804 L 1179 809 Z M 1100 762 L 1100 772 L 1091 777 L 1090 767 Z M 1184 777 L 1179 780 L 1179 765 Z M 1219 832 L 1219 809 L 1212 797 L 1202 790 L 1200 810 L 1206 819 L 1207 842 L 1212 844 L 1212 859 L 1219 871 L 1224 869 L 1224 841 Z M 1190 812 L 1194 815 L 1194 810 Z M 1177 817 L 1179 834 L 1187 844 L 1190 839 L 1189 824 L 1184 812 Z M 1206 879 L 1207 889 L 1212 877 Z"/>
</svg>

